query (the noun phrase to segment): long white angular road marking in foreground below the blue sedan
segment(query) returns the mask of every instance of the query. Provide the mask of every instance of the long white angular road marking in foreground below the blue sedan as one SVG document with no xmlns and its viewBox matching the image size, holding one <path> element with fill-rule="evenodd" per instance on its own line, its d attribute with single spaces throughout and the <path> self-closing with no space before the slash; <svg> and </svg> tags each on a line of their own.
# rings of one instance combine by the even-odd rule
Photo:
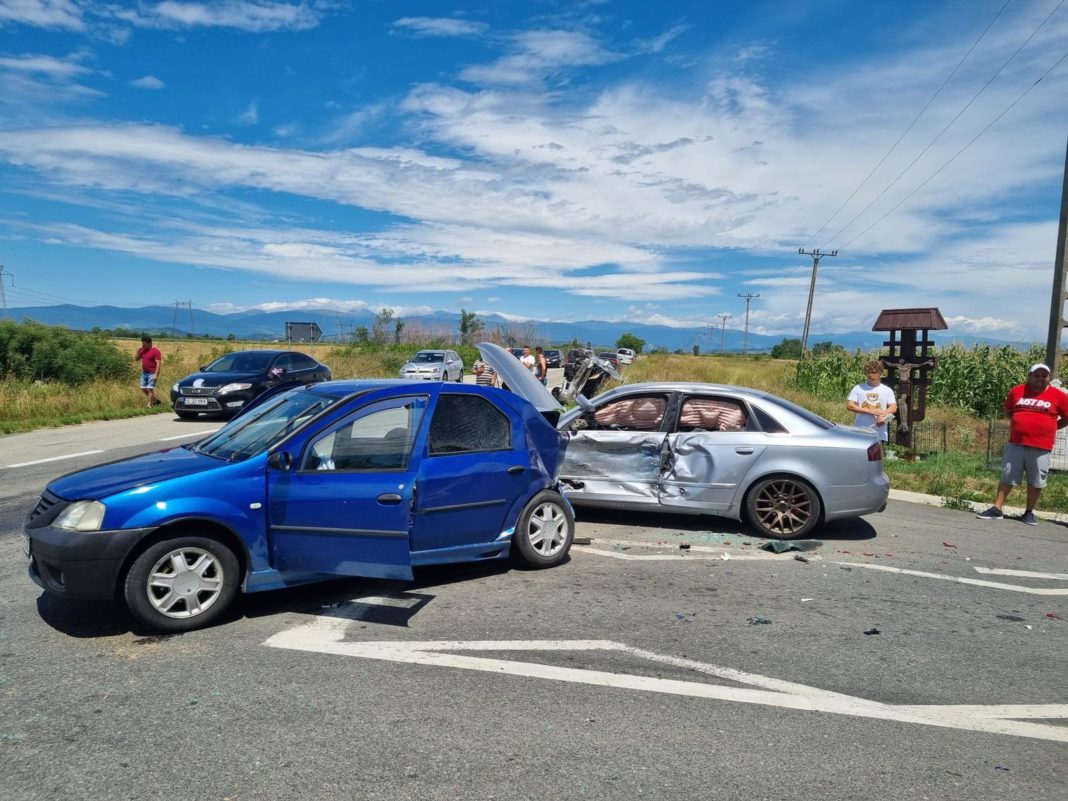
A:
<svg viewBox="0 0 1068 801">
<path fill-rule="evenodd" d="M 848 714 L 858 718 L 915 723 L 970 732 L 1030 737 L 1040 740 L 1068 742 L 1068 727 L 1043 723 L 1027 723 L 1016 719 L 1061 720 L 1068 719 L 1068 704 L 1028 705 L 946 705 L 905 706 L 881 704 L 867 698 L 821 690 L 816 687 L 784 681 L 782 679 L 744 673 L 732 668 L 722 668 L 692 659 L 656 654 L 634 648 L 610 640 L 478 640 L 478 641 L 433 641 L 399 642 L 373 641 L 349 642 L 345 634 L 352 619 L 358 619 L 361 610 L 374 606 L 381 599 L 359 598 L 354 604 L 339 609 L 331 617 L 316 618 L 304 626 L 281 631 L 268 639 L 265 645 L 272 648 L 317 651 L 339 656 L 379 659 L 389 662 L 426 664 L 439 668 L 454 668 L 487 673 L 508 674 L 541 678 L 551 681 L 611 687 L 644 692 L 659 692 L 671 695 L 687 695 L 697 698 L 733 701 L 741 704 L 761 704 L 784 709 L 800 709 L 830 714 Z M 678 679 L 637 676 L 626 673 L 608 673 L 576 668 L 559 668 L 537 662 L 517 662 L 508 659 L 473 657 L 449 651 L 560 651 L 560 650 L 608 650 L 627 654 L 661 664 L 693 670 L 709 676 L 734 682 L 750 685 L 760 689 L 725 687 L 722 685 L 682 681 Z"/>
</svg>

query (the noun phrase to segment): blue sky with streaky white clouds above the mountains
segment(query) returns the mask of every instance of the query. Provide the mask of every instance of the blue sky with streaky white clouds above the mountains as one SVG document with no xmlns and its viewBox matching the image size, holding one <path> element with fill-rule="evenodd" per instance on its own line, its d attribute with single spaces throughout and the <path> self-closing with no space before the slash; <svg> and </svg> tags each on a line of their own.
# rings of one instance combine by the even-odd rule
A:
<svg viewBox="0 0 1068 801">
<path fill-rule="evenodd" d="M 803 246 L 814 332 L 1043 341 L 1066 54 L 1064 0 L 0 0 L 7 302 L 797 335 Z"/>
</svg>

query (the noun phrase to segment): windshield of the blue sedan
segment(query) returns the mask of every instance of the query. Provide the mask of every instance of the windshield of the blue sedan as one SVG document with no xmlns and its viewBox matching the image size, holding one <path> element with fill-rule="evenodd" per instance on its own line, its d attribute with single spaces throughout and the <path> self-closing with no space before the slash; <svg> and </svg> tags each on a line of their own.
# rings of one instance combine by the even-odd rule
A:
<svg viewBox="0 0 1068 801">
<path fill-rule="evenodd" d="M 343 396 L 292 390 L 262 407 L 234 418 L 207 439 L 191 446 L 197 453 L 227 461 L 244 461 L 280 442 Z"/>
</svg>

